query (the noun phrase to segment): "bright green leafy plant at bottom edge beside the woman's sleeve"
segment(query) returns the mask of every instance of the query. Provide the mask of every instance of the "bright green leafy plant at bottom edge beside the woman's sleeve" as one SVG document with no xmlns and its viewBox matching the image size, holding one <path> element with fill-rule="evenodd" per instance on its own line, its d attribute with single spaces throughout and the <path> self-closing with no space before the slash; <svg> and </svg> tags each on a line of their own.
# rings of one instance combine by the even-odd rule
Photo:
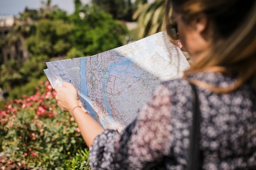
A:
<svg viewBox="0 0 256 170">
<path fill-rule="evenodd" d="M 79 150 L 72 159 L 65 160 L 66 170 L 90 170 L 88 155 L 87 149 Z"/>
</svg>

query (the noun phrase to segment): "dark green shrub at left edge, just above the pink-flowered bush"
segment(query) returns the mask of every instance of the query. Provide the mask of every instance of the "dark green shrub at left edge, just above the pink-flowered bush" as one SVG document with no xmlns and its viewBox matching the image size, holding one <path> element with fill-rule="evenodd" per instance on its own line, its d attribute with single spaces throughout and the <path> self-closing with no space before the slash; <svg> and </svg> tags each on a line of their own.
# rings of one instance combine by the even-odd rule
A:
<svg viewBox="0 0 256 170">
<path fill-rule="evenodd" d="M 7 88 L 9 89 L 9 99 L 20 99 L 22 94 L 35 94 L 35 87 L 38 82 L 47 79 L 43 72 L 47 60 L 46 55 L 38 55 L 24 62 L 21 66 L 14 61 L 1 66 L 0 84 L 2 84 L 2 88 L 9 86 Z"/>
</svg>

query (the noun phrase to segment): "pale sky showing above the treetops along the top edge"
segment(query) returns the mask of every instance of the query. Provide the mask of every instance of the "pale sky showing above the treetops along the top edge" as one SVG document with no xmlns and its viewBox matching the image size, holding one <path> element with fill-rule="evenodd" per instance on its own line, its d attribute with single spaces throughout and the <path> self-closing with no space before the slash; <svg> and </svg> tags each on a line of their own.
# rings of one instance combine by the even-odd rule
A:
<svg viewBox="0 0 256 170">
<path fill-rule="evenodd" d="M 28 9 L 39 9 L 42 0 L 0 0 L 0 15 L 18 15 L 24 12 L 25 7 Z M 47 0 L 43 0 L 47 2 Z M 134 2 L 135 0 L 132 0 Z M 153 0 L 148 0 L 152 2 Z M 90 0 L 81 0 L 83 4 Z M 59 8 L 67 11 L 68 14 L 74 12 L 74 0 L 52 0 L 52 6 L 57 5 Z"/>
</svg>

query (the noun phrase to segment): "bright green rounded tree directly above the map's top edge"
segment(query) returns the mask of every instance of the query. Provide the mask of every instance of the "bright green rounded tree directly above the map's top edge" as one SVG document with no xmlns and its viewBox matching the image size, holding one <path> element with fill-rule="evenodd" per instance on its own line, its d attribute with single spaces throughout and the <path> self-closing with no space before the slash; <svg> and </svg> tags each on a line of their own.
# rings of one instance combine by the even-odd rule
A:
<svg viewBox="0 0 256 170">
<path fill-rule="evenodd" d="M 76 49 L 93 55 L 124 44 L 124 36 L 128 33 L 124 24 L 95 5 L 87 4 L 79 9 L 70 15 L 70 22 L 75 27 L 72 38 Z"/>
</svg>

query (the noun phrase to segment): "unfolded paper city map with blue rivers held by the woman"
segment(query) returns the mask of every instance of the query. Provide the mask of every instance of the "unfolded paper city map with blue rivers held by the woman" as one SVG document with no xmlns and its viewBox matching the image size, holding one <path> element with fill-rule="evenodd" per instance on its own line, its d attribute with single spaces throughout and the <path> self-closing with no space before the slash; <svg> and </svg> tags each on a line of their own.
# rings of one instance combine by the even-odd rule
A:
<svg viewBox="0 0 256 170">
<path fill-rule="evenodd" d="M 52 84 L 70 82 L 105 129 L 123 130 L 161 82 L 182 77 L 189 63 L 165 31 L 88 57 L 47 62 Z"/>
</svg>

